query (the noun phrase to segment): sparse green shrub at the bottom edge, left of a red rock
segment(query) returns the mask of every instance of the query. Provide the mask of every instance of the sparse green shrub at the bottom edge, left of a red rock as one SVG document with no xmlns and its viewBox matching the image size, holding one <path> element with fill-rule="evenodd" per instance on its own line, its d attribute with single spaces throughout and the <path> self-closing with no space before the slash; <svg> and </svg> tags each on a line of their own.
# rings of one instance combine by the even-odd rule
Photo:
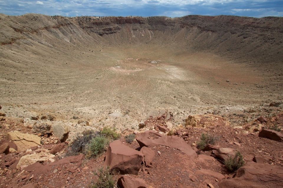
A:
<svg viewBox="0 0 283 188">
<path fill-rule="evenodd" d="M 111 175 L 109 166 L 104 170 L 103 167 L 98 169 L 99 173 L 94 173 L 98 176 L 97 182 L 91 186 L 91 188 L 114 188 L 117 187 L 117 181 Z"/>
</svg>

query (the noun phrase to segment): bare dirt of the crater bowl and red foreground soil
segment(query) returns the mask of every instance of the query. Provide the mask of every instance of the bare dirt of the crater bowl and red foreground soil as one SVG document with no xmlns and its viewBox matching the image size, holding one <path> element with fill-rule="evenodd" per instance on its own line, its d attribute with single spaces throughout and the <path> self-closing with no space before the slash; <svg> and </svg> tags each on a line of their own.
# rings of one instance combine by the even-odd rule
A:
<svg viewBox="0 0 283 188">
<path fill-rule="evenodd" d="M 0 14 L 1 113 L 24 118 L 26 124 L 38 121 L 31 117 L 50 113 L 71 126 L 70 140 L 85 129 L 103 126 L 124 134 L 139 131 L 139 122 L 152 108 L 170 109 L 174 127 L 184 126 L 188 115 L 213 113 L 230 121 L 231 127 L 182 128 L 190 134 L 185 138 L 188 144 L 209 132 L 220 136 L 217 144 L 221 147 L 241 151 L 246 161 L 256 154 L 281 165 L 274 159 L 282 158 L 281 143 L 233 127 L 282 111 L 282 105 L 269 105 L 283 101 L 282 23 L 281 17 L 223 15 L 70 18 Z M 7 131 L 34 134 L 24 124 L 9 121 L 1 121 L 0 130 L 1 139 L 8 139 Z M 125 144 L 139 148 L 136 142 Z M 154 157 L 152 168 L 143 166 L 137 177 L 153 187 L 217 186 L 215 178 L 194 174 L 200 168 L 233 176 L 218 160 L 197 161 L 172 148 L 151 149 L 161 154 Z M 79 176 L 61 166 L 58 173 L 52 174 L 52 169 L 29 181 L 45 187 L 87 187 L 102 162 L 103 156 L 84 161 L 80 168 L 89 169 L 77 171 Z M 20 187 L 21 180 L 2 177 L 0 186 L 7 182 L 8 187 Z M 41 183 L 37 187 L 44 187 Z"/>
</svg>

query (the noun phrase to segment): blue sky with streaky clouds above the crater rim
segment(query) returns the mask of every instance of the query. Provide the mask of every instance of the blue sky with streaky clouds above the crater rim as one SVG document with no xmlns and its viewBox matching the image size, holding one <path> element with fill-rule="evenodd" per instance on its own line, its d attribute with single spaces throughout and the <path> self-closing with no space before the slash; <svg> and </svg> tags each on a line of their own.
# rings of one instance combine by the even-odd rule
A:
<svg viewBox="0 0 283 188">
<path fill-rule="evenodd" d="M 0 0 L 0 13 L 62 16 L 283 17 L 283 0 Z"/>
</svg>

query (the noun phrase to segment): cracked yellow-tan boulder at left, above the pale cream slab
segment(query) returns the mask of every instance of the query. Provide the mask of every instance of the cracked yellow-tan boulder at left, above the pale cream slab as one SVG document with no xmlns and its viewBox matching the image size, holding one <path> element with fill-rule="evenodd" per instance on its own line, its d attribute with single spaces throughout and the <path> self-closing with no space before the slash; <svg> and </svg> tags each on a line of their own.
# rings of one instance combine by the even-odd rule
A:
<svg viewBox="0 0 283 188">
<path fill-rule="evenodd" d="M 41 138 L 33 134 L 24 134 L 18 131 L 8 132 L 8 135 L 16 145 L 17 151 L 25 151 L 31 147 L 40 145 Z"/>
</svg>

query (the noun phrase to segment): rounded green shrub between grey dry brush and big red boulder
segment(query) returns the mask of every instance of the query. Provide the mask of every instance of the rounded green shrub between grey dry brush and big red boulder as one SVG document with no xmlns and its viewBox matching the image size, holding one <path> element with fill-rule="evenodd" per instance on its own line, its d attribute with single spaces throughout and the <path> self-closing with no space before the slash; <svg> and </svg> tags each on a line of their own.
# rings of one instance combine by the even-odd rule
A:
<svg viewBox="0 0 283 188">
<path fill-rule="evenodd" d="M 108 144 L 108 140 L 103 136 L 96 136 L 91 139 L 87 148 L 87 157 L 95 157 L 105 151 L 105 146 Z"/>
</svg>

